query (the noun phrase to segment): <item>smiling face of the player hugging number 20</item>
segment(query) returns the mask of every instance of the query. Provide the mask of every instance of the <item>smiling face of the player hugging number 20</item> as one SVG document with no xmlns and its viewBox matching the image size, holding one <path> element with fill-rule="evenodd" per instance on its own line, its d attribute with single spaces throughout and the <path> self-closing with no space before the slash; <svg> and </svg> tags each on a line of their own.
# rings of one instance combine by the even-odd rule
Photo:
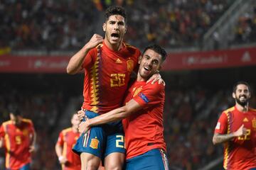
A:
<svg viewBox="0 0 256 170">
<path fill-rule="evenodd" d="M 139 76 L 147 80 L 160 69 L 161 55 L 154 50 L 146 50 L 139 64 Z"/>
</svg>

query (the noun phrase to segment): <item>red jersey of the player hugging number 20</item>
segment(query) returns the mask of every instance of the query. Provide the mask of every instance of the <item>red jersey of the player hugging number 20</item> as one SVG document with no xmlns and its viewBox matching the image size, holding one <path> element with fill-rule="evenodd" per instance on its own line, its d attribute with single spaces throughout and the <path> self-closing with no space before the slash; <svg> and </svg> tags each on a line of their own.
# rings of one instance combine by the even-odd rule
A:
<svg viewBox="0 0 256 170">
<path fill-rule="evenodd" d="M 164 85 L 135 81 L 125 102 L 134 99 L 142 110 L 123 120 L 127 159 L 151 149 L 164 149 Z"/>
</svg>

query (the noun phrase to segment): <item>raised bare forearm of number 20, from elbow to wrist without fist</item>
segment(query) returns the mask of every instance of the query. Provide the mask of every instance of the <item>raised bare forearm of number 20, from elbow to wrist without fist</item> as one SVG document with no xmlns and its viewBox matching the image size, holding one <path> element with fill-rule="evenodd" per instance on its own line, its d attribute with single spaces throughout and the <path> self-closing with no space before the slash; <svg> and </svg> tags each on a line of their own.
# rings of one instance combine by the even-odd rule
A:
<svg viewBox="0 0 256 170">
<path fill-rule="evenodd" d="M 89 49 L 85 45 L 80 51 L 78 51 L 75 55 L 73 55 L 73 57 L 71 57 L 67 67 L 68 74 L 76 74 L 80 71 L 82 62 L 85 60 L 85 56 L 88 52 Z"/>
</svg>

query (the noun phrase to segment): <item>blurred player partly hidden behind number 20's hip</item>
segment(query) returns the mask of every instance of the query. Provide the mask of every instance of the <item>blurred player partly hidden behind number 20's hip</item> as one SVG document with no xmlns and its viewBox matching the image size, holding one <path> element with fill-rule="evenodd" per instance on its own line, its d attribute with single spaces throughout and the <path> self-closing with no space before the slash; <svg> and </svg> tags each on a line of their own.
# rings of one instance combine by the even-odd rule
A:
<svg viewBox="0 0 256 170">
<path fill-rule="evenodd" d="M 80 136 L 78 132 L 79 123 L 78 114 L 74 113 L 71 118 L 72 127 L 60 132 L 58 142 L 55 145 L 55 152 L 63 170 L 81 169 L 80 157 L 72 151 L 73 145 L 75 145 Z"/>
</svg>

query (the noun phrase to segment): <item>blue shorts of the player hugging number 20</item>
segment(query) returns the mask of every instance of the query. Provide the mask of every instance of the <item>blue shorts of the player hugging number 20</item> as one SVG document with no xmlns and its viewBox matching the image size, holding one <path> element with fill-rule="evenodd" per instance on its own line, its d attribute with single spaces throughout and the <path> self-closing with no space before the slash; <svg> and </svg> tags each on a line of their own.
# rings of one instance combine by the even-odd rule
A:
<svg viewBox="0 0 256 170">
<path fill-rule="evenodd" d="M 137 157 L 127 159 L 126 170 L 168 170 L 168 159 L 162 149 L 151 149 Z"/>
</svg>

